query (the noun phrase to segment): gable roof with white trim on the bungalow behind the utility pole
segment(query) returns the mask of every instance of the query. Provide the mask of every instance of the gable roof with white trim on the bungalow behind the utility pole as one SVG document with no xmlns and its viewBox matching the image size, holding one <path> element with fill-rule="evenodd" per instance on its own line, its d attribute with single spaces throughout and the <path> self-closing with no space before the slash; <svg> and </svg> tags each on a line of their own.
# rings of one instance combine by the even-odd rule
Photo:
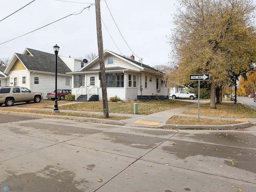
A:
<svg viewBox="0 0 256 192">
<path fill-rule="evenodd" d="M 136 66 L 136 67 L 138 67 L 138 68 L 140 68 L 141 70 L 148 69 L 148 70 L 150 70 L 150 71 L 158 72 L 158 70 L 157 70 L 157 69 L 154 69 L 153 67 L 150 67 L 150 66 L 148 66 L 148 65 L 144 65 L 143 63 L 134 61 L 134 60 L 132 60 L 132 59 L 128 59 L 128 58 L 123 57 L 123 56 L 121 56 L 121 55 L 118 55 L 118 54 L 116 54 L 116 53 L 114 53 L 114 52 L 112 52 L 112 51 L 105 50 L 105 51 L 104 51 L 104 57 L 105 57 L 106 55 L 108 55 L 108 54 L 114 55 L 114 56 L 116 56 L 116 57 L 118 57 L 118 58 L 120 58 L 120 59 L 122 59 L 122 60 L 124 60 L 124 61 L 126 61 L 126 62 L 128 62 L 128 63 L 130 63 L 130 64 L 132 64 L 132 65 L 134 65 L 134 66 Z M 99 56 L 96 57 L 95 59 L 93 59 L 92 61 L 90 61 L 90 63 L 88 63 L 87 65 L 85 65 L 85 66 L 84 66 L 83 68 L 81 68 L 78 72 L 83 72 L 83 71 L 88 72 L 88 71 L 90 71 L 90 70 L 87 70 L 87 69 L 88 69 L 90 66 L 94 65 L 95 63 L 97 63 L 98 61 L 99 61 Z M 97 69 L 97 70 L 99 71 L 100 69 Z M 106 70 L 106 68 L 105 68 L 105 70 Z M 95 70 L 95 71 L 96 71 L 96 70 Z M 162 73 L 162 72 L 160 72 L 160 73 Z"/>
</svg>

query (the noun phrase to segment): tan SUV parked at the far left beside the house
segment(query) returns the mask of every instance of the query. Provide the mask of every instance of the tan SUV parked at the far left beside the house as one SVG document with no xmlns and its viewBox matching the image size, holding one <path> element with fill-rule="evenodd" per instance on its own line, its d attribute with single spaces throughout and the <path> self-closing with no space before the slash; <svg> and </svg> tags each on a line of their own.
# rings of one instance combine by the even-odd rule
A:
<svg viewBox="0 0 256 192">
<path fill-rule="evenodd" d="M 0 87 L 0 106 L 13 106 L 16 102 L 30 102 L 39 103 L 43 94 L 41 92 L 32 92 L 28 88 L 18 86 Z"/>
</svg>

